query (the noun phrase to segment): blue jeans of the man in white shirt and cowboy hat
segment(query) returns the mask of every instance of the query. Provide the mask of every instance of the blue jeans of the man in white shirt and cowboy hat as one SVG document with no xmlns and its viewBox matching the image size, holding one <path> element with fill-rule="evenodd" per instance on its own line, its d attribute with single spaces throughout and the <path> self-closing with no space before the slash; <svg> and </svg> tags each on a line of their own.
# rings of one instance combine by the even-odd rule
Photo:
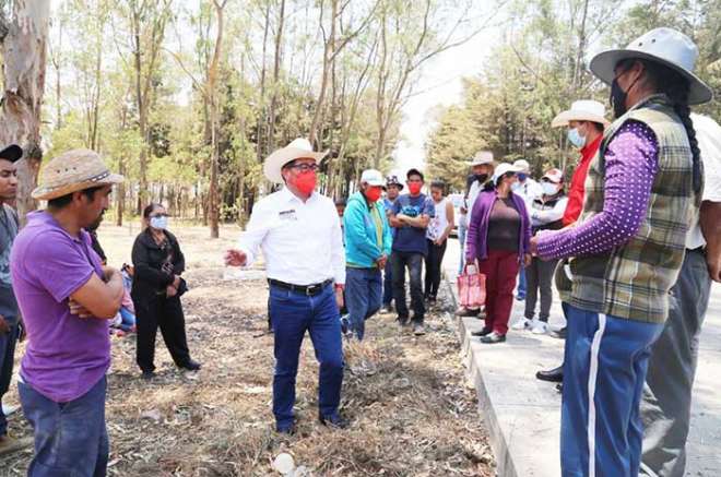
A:
<svg viewBox="0 0 721 477">
<path fill-rule="evenodd" d="M 270 315 L 275 332 L 273 414 L 279 429 L 293 424 L 295 378 L 306 331 L 320 363 L 320 414 L 327 418 L 338 417 L 343 384 L 343 342 L 333 287 L 328 285 L 320 294 L 309 297 L 271 285 Z"/>
</svg>

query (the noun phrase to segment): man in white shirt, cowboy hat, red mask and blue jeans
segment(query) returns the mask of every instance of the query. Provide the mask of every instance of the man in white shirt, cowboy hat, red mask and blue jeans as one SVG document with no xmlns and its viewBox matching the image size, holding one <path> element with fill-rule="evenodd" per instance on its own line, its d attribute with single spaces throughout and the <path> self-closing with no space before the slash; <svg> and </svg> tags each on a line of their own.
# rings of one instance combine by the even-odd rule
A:
<svg viewBox="0 0 721 477">
<path fill-rule="evenodd" d="M 318 163 L 326 154 L 296 139 L 265 159 L 265 177 L 285 186 L 256 204 L 238 249 L 225 255 L 227 265 L 248 266 L 259 249 L 263 252 L 275 338 L 273 414 L 283 433 L 295 431 L 295 380 L 306 331 L 320 362 L 320 422 L 347 426 L 338 409 L 343 383 L 343 237 L 333 201 L 315 192 Z"/>
</svg>

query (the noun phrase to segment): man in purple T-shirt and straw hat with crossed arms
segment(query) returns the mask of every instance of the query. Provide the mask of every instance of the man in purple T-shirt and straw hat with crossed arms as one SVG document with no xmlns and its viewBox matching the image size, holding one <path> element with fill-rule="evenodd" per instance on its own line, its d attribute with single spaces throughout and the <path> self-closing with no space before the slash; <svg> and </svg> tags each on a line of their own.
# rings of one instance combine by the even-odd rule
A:
<svg viewBox="0 0 721 477">
<path fill-rule="evenodd" d="M 45 165 L 42 178 L 33 198 L 47 208 L 27 216 L 10 259 L 27 330 L 17 387 L 35 433 L 28 476 L 104 476 L 108 325 L 122 277 L 101 264 L 84 228 L 108 207 L 122 176 L 96 153 L 76 150 Z"/>
</svg>

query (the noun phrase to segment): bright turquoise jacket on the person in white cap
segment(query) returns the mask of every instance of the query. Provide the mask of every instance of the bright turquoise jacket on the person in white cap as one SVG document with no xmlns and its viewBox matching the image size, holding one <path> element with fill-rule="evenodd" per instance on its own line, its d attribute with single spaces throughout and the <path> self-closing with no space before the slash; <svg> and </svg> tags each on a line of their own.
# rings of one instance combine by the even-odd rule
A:
<svg viewBox="0 0 721 477">
<path fill-rule="evenodd" d="M 345 262 L 348 266 L 370 269 L 382 254 L 390 257 L 392 235 L 388 224 L 386 207 L 382 201 L 374 205 L 378 207 L 383 225 L 383 245 L 378 247 L 376 223 L 370 215 L 370 208 L 365 196 L 356 192 L 347 201 L 343 213 L 343 229 L 345 234 Z"/>
</svg>

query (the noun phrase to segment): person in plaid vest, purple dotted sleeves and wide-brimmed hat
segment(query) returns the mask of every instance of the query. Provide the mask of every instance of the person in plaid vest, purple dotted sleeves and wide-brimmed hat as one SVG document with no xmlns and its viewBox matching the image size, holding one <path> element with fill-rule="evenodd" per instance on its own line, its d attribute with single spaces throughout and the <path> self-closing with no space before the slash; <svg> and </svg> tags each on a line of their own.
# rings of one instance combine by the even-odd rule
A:
<svg viewBox="0 0 721 477">
<path fill-rule="evenodd" d="M 698 48 L 655 28 L 605 51 L 591 71 L 611 84 L 615 120 L 586 181 L 575 227 L 539 234 L 542 259 L 570 261 L 562 412 L 564 475 L 636 476 L 639 403 L 651 345 L 700 204 L 702 176 L 689 105 L 711 98 L 694 73 Z M 557 282 L 569 278 L 558 267 Z"/>
</svg>

